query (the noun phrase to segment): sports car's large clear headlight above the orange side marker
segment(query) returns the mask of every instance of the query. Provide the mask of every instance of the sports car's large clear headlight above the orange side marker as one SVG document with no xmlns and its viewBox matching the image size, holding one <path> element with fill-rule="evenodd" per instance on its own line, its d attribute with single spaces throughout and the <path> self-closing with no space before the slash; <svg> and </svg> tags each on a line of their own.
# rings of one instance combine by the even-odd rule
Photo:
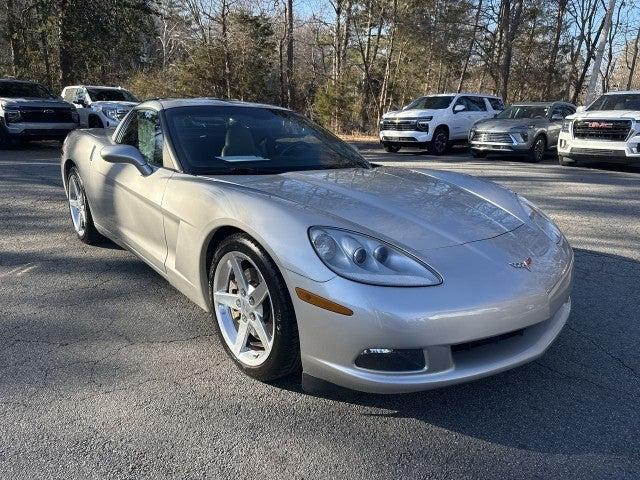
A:
<svg viewBox="0 0 640 480">
<path fill-rule="evenodd" d="M 355 282 L 393 287 L 442 283 L 442 277 L 428 265 L 368 235 L 339 228 L 311 227 L 309 239 L 330 270 Z"/>
</svg>

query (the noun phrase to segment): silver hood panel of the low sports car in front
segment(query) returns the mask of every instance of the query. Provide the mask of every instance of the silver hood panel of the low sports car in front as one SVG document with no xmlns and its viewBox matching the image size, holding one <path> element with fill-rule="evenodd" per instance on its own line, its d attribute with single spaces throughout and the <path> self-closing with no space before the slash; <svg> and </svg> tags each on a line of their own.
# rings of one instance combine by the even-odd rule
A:
<svg viewBox="0 0 640 480">
<path fill-rule="evenodd" d="M 413 170 L 316 170 L 224 180 L 336 219 L 331 225 L 357 229 L 417 252 L 493 238 L 522 225 L 479 195 Z"/>
</svg>

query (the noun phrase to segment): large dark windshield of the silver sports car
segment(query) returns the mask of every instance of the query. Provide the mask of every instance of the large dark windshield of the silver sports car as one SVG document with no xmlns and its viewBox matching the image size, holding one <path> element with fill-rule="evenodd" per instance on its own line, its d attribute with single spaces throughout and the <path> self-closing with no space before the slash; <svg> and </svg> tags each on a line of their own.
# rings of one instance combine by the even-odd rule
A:
<svg viewBox="0 0 640 480">
<path fill-rule="evenodd" d="M 194 174 L 371 168 L 332 133 L 288 110 L 203 105 L 166 110 L 181 162 Z"/>
</svg>

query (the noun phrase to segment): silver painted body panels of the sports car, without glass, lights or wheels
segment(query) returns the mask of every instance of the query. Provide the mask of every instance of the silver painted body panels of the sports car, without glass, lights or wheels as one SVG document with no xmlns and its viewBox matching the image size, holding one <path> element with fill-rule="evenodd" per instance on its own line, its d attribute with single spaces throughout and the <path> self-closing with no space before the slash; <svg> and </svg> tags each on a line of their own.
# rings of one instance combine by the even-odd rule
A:
<svg viewBox="0 0 640 480">
<path fill-rule="evenodd" d="M 210 239 L 220 227 L 247 232 L 282 272 L 296 311 L 303 369 L 315 377 L 371 392 L 448 385 L 536 358 L 567 320 L 571 248 L 551 242 L 513 192 L 493 183 L 389 168 L 217 177 L 154 168 L 142 176 L 132 165 L 102 160 L 100 150 L 110 144 L 112 137 L 76 131 L 63 149 L 63 173 L 73 160 L 97 228 L 206 310 Z M 391 241 L 432 265 L 444 283 L 393 288 L 338 277 L 313 251 L 312 225 Z M 528 257 L 530 271 L 510 266 Z M 295 287 L 354 314 L 304 303 Z M 469 354 L 451 352 L 451 345 L 522 328 L 514 340 Z M 372 347 L 423 348 L 428 367 L 412 373 L 356 367 L 358 354 Z"/>
</svg>

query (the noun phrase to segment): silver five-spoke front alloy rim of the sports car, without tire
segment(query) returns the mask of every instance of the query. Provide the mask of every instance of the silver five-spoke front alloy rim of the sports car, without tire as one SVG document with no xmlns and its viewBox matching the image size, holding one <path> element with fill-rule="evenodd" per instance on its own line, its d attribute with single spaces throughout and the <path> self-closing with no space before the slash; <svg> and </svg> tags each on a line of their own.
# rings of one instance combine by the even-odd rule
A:
<svg viewBox="0 0 640 480">
<path fill-rule="evenodd" d="M 275 322 L 269 288 L 245 254 L 226 253 L 216 266 L 213 304 L 224 341 L 241 363 L 264 363 L 273 347 Z"/>
</svg>

